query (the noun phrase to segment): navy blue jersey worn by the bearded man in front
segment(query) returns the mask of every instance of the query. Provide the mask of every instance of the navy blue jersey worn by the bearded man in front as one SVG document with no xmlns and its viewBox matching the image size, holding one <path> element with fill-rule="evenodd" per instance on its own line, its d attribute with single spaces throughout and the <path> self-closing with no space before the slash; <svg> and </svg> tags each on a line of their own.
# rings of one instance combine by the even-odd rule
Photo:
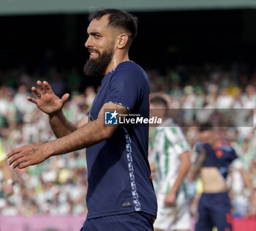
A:
<svg viewBox="0 0 256 231">
<path fill-rule="evenodd" d="M 132 61 L 122 62 L 102 79 L 90 120 L 97 119 L 108 102 L 148 118 L 149 94 L 146 72 Z M 134 211 L 156 216 L 157 200 L 148 164 L 148 126 L 119 125 L 108 140 L 86 149 L 86 160 L 88 219 Z"/>
</svg>

